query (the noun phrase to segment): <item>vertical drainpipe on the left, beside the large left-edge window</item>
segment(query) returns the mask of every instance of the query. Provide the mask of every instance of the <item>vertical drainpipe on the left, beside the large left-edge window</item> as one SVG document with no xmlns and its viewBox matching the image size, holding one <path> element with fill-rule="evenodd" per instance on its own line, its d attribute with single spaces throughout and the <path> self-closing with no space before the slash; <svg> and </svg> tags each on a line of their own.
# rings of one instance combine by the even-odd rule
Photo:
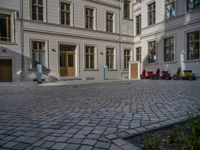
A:
<svg viewBox="0 0 200 150">
<path fill-rule="evenodd" d="M 20 32 L 21 32 L 21 81 L 24 81 L 24 0 L 20 0 Z"/>
</svg>

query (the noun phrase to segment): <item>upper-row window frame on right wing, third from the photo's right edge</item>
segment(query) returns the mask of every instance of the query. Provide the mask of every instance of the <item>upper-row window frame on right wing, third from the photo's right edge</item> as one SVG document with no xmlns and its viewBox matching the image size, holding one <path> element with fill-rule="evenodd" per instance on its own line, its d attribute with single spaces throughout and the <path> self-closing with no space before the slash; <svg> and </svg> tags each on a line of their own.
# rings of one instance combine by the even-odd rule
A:
<svg viewBox="0 0 200 150">
<path fill-rule="evenodd" d="M 150 10 L 151 6 L 153 7 L 154 5 L 154 9 Z M 152 2 L 150 4 L 148 4 L 148 7 L 147 7 L 147 13 L 148 13 L 148 25 L 154 25 L 156 24 L 156 2 Z M 151 16 L 151 18 L 150 18 Z M 152 17 L 153 17 L 153 20 L 152 20 Z M 151 22 L 150 22 L 151 21 Z"/>
</svg>

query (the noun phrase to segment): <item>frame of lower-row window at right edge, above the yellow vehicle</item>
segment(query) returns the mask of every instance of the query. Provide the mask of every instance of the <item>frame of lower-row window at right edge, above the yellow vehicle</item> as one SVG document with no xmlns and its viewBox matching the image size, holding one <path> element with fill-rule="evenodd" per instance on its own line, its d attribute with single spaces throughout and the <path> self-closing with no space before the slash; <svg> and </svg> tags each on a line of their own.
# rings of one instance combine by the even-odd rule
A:
<svg viewBox="0 0 200 150">
<path fill-rule="evenodd" d="M 189 59 L 189 47 L 188 47 L 188 35 L 191 34 L 191 33 L 195 33 L 195 32 L 198 32 L 199 33 L 199 41 L 197 41 L 199 44 L 198 44 L 198 47 L 199 47 L 199 51 L 198 51 L 198 55 L 199 57 L 198 58 L 194 58 L 194 59 Z M 195 43 L 195 42 L 191 42 L 191 43 Z M 199 61 L 200 60 L 200 30 L 193 30 L 193 31 L 190 31 L 190 32 L 187 32 L 186 33 L 186 61 Z"/>
</svg>

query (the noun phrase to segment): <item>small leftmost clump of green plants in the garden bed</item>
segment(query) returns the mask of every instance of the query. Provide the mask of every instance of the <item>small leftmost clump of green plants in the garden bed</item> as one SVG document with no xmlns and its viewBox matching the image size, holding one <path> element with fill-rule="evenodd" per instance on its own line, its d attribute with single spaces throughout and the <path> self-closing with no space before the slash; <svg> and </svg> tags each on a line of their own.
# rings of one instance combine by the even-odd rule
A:
<svg viewBox="0 0 200 150">
<path fill-rule="evenodd" d="M 158 138 L 154 138 L 151 134 L 148 135 L 146 139 L 146 147 L 149 150 L 159 150 L 161 149 L 161 140 Z"/>
</svg>

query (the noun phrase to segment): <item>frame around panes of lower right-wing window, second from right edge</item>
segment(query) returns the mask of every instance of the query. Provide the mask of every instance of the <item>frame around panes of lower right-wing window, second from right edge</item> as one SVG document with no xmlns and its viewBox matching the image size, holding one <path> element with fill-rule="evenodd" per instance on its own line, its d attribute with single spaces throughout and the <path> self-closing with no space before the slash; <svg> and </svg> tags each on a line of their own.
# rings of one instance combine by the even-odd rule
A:
<svg viewBox="0 0 200 150">
<path fill-rule="evenodd" d="M 170 44 L 166 45 L 166 40 L 170 40 Z M 173 43 L 171 43 L 171 41 L 173 41 Z M 172 45 L 173 44 L 173 45 Z M 171 50 L 171 48 L 173 48 L 173 51 Z M 163 39 L 163 61 L 164 63 L 169 63 L 169 62 L 174 62 L 175 61 L 175 48 L 176 48 L 176 43 L 175 43 L 175 37 L 174 36 L 169 36 L 169 37 L 165 37 Z M 169 55 L 170 58 L 166 59 L 166 50 L 169 50 Z M 173 59 L 171 58 L 171 52 L 173 52 Z"/>
</svg>

